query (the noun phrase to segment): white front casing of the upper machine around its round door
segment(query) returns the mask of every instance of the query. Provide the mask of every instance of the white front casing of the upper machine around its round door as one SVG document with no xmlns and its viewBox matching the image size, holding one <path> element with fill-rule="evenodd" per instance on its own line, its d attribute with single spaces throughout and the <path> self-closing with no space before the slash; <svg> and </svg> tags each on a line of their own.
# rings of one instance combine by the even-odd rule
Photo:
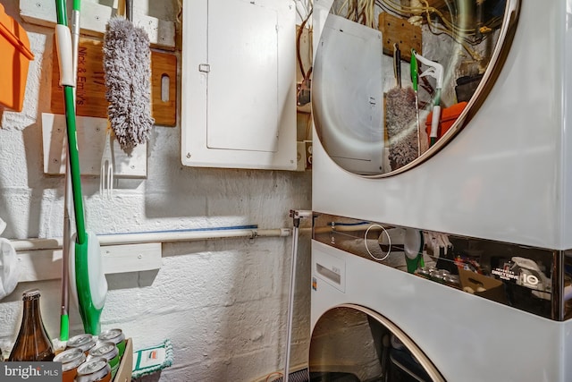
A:
<svg viewBox="0 0 572 382">
<path fill-rule="evenodd" d="M 441 151 L 407 172 L 375 179 L 350 174 L 315 139 L 313 209 L 572 248 L 571 13 L 567 0 L 523 1 L 506 62 L 484 104 Z"/>
</svg>

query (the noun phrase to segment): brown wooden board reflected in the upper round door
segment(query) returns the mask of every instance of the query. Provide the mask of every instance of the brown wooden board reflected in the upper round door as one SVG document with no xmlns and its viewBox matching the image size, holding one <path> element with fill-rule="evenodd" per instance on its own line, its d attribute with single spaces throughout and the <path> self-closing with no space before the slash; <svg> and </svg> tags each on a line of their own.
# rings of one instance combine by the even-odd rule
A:
<svg viewBox="0 0 572 382">
<path fill-rule="evenodd" d="M 390 13 L 379 14 L 379 28 L 383 36 L 383 54 L 393 56 L 393 44 L 400 46 L 401 59 L 411 61 L 411 48 L 423 55 L 421 27 L 411 25 L 406 19 Z"/>
</svg>

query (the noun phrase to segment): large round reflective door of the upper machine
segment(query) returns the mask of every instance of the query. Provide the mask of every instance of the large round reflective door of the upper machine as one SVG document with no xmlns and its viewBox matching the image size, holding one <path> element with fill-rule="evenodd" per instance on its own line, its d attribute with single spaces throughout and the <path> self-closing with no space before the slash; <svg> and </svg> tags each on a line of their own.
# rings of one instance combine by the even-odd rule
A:
<svg viewBox="0 0 572 382">
<path fill-rule="evenodd" d="M 322 24 L 315 18 L 312 74 L 328 156 L 366 177 L 433 156 L 494 87 L 518 9 L 519 0 L 333 1 Z"/>
</svg>

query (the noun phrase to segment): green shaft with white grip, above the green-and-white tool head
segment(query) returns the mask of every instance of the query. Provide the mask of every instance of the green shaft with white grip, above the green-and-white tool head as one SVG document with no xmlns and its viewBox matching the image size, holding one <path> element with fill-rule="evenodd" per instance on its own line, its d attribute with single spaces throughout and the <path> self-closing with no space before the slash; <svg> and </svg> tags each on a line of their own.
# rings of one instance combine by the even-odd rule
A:
<svg viewBox="0 0 572 382">
<path fill-rule="evenodd" d="M 78 132 L 75 123 L 75 105 L 73 88 L 73 58 L 71 49 L 71 32 L 67 25 L 65 0 L 55 0 L 57 25 L 55 26 L 55 43 L 60 64 L 60 84 L 63 86 L 65 105 L 65 123 L 70 156 L 71 190 L 73 193 L 73 209 L 75 215 L 77 242 L 87 241 L 85 218 L 83 216 L 83 200 L 81 199 L 80 155 L 78 153 Z"/>
</svg>

